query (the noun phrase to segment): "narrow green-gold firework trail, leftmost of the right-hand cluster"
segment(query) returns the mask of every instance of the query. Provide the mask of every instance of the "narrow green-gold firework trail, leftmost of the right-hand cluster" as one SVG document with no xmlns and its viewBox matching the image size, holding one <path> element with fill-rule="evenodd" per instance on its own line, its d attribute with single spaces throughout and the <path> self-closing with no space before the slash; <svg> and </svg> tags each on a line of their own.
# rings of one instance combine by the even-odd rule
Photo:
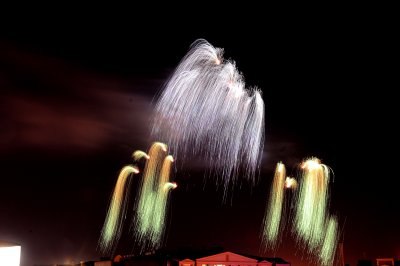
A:
<svg viewBox="0 0 400 266">
<path fill-rule="evenodd" d="M 275 169 L 273 185 L 269 195 L 268 208 L 264 216 L 262 230 L 262 244 L 265 249 L 275 248 L 278 234 L 280 231 L 280 222 L 282 216 L 282 206 L 284 199 L 286 169 L 283 163 L 278 163 Z"/>
</svg>

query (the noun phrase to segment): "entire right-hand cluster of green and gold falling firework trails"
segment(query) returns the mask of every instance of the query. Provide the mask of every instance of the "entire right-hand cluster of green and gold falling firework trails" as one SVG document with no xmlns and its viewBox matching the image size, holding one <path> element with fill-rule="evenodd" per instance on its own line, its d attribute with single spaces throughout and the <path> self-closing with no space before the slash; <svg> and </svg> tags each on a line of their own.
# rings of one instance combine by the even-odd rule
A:
<svg viewBox="0 0 400 266">
<path fill-rule="evenodd" d="M 297 205 L 292 233 L 298 244 L 301 244 L 298 247 L 306 250 L 305 255 L 313 265 L 332 266 L 339 237 L 336 216 L 327 216 L 331 169 L 315 157 L 303 161 L 301 169 L 300 189 L 294 198 Z M 296 188 L 296 179 L 286 177 L 286 168 L 279 162 L 263 220 L 261 244 L 264 251 L 277 247 L 280 231 L 283 230 L 282 220 L 285 218 L 283 203 L 290 198 L 287 196 L 291 195 L 285 193 Z"/>
</svg>

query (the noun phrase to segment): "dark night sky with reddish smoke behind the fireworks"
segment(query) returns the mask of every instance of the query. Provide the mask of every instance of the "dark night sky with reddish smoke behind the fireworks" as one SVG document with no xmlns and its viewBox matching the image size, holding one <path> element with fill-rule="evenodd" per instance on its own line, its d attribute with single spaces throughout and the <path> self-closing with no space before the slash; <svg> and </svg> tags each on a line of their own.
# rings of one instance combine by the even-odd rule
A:
<svg viewBox="0 0 400 266">
<path fill-rule="evenodd" d="M 133 151 L 150 147 L 155 97 L 204 38 L 224 49 L 246 87 L 262 91 L 261 173 L 256 186 L 234 187 L 228 203 L 204 169 L 174 173 L 165 248 L 260 255 L 276 163 L 295 175 L 315 156 L 333 170 L 329 212 L 339 219 L 346 263 L 399 259 L 394 32 L 390 17 L 356 11 L 281 10 L 196 27 L 132 19 L 137 10 L 16 19 L 0 36 L 0 240 L 22 246 L 21 266 L 99 259 L 118 173 Z M 133 240 L 123 233 L 117 253 L 129 254 Z M 288 230 L 268 256 L 309 265 Z"/>
</svg>

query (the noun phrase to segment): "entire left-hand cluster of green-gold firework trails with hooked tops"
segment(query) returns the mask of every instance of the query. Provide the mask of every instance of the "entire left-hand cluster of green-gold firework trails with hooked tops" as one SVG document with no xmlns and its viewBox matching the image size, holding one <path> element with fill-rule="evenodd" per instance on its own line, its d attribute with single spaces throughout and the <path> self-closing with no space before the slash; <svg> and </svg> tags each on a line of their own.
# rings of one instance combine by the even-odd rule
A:
<svg viewBox="0 0 400 266">
<path fill-rule="evenodd" d="M 133 219 L 136 242 L 141 245 L 142 250 L 158 248 L 161 245 L 169 191 L 177 187 L 176 183 L 169 182 L 174 159 L 171 155 L 167 156 L 166 152 L 166 144 L 154 142 L 149 154 L 139 150 L 132 154 L 135 162 L 146 158 L 141 186 L 136 195 Z M 139 173 L 137 166 L 123 167 L 115 185 L 99 240 L 99 248 L 103 254 L 112 254 L 120 239 L 123 228 L 122 217 L 126 214 L 129 176 L 133 173 Z"/>
</svg>

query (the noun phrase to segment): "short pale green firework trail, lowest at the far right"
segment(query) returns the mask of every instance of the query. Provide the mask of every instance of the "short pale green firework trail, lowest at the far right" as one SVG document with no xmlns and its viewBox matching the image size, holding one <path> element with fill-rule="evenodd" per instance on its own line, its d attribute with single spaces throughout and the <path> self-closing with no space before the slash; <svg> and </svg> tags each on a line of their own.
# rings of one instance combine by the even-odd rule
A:
<svg viewBox="0 0 400 266">
<path fill-rule="evenodd" d="M 338 222 L 336 217 L 331 216 L 327 221 L 325 238 L 319 256 L 322 266 L 333 265 L 338 239 Z"/>
</svg>

